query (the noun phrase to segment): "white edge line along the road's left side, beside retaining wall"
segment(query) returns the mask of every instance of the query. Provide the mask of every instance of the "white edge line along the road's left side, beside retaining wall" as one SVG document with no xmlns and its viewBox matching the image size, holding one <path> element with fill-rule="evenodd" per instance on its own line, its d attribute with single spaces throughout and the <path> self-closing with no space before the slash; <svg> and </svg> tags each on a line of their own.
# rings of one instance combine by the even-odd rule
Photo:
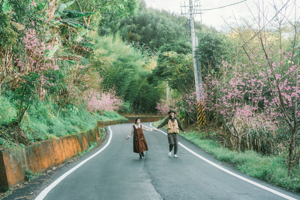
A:
<svg viewBox="0 0 300 200">
<path fill-rule="evenodd" d="M 110 144 L 110 141 L 112 139 L 113 136 L 113 131 L 110 129 L 111 126 L 109 126 L 109 130 L 110 130 L 110 138 L 108 139 L 106 145 L 101 148 L 97 153 L 93 154 L 92 156 L 88 157 L 87 159 L 83 160 L 81 163 L 79 163 L 78 165 L 76 165 L 75 167 L 73 167 L 72 169 L 70 169 L 69 171 L 67 171 L 66 173 L 64 173 L 61 177 L 59 177 L 58 179 L 56 179 L 52 184 L 50 184 L 48 187 L 46 187 L 36 198 L 35 200 L 42 200 L 44 199 L 44 197 L 50 192 L 50 190 L 52 190 L 53 187 L 55 187 L 60 181 L 62 181 L 64 178 L 67 177 L 67 175 L 69 175 L 70 173 L 74 172 L 77 168 L 79 168 L 80 166 L 82 166 L 84 163 L 86 163 L 88 160 L 92 159 L 93 157 L 95 157 L 96 155 L 98 155 L 101 151 L 103 151 L 105 148 L 107 148 L 107 146 Z"/>
</svg>

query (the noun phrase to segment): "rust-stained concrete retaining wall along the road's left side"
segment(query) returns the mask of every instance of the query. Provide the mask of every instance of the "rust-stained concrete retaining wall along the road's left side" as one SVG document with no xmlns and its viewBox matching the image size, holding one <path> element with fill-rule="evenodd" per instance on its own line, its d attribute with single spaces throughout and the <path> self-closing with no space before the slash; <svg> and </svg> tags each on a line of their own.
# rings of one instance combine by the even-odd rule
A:
<svg viewBox="0 0 300 200">
<path fill-rule="evenodd" d="M 43 173 L 76 156 L 79 152 L 86 151 L 90 142 L 97 141 L 99 127 L 134 123 L 135 118 L 137 117 L 98 121 L 97 127 L 88 131 L 38 142 L 23 148 L 0 151 L 0 192 L 27 181 L 25 170 Z M 142 117 L 141 121 L 151 122 L 158 119 L 158 117 Z"/>
</svg>

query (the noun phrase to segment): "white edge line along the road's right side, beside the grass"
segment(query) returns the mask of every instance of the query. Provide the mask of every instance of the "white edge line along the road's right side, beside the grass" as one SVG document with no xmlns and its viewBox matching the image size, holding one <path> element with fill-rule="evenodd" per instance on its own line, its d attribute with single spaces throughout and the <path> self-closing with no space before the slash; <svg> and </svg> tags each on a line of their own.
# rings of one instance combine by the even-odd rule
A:
<svg viewBox="0 0 300 200">
<path fill-rule="evenodd" d="M 151 123 L 151 124 L 153 124 L 153 123 Z M 153 127 L 153 128 L 155 128 L 155 127 L 152 126 L 151 124 L 150 124 L 150 126 Z M 164 133 L 164 132 L 161 131 L 161 130 L 159 130 L 159 131 L 162 132 L 162 133 Z M 168 135 L 167 133 L 164 133 L 164 134 L 165 134 L 165 135 Z M 187 148 L 186 146 L 182 145 L 180 142 L 178 142 L 178 144 L 179 144 L 180 146 L 182 146 L 183 148 L 185 148 L 187 151 L 189 151 L 189 152 L 191 152 L 192 154 L 194 154 L 195 156 L 201 158 L 201 159 L 204 160 L 205 162 L 207 162 L 207 163 L 209 163 L 209 164 L 211 164 L 211 165 L 213 165 L 213 166 L 219 168 L 220 170 L 222 170 L 222 171 L 224 171 L 224 172 L 227 172 L 228 174 L 231 174 L 231 175 L 233 175 L 233 176 L 235 176 L 235 177 L 237 177 L 237 178 L 239 178 L 239 179 L 241 179 L 241 180 L 247 181 L 247 182 L 250 183 L 250 184 L 253 184 L 253 185 L 257 186 L 257 187 L 260 187 L 260 188 L 262 188 L 262 189 L 265 189 L 265 190 L 267 190 L 267 191 L 269 191 L 269 192 L 271 192 L 271 193 L 274 193 L 274 194 L 276 194 L 276 195 L 278 195 L 278 196 L 282 196 L 283 198 L 286 198 L 286 199 L 289 199 L 289 200 L 298 200 L 298 199 L 294 199 L 294 198 L 292 198 L 292 197 L 290 197 L 290 196 L 287 196 L 287 195 L 285 195 L 285 194 L 283 194 L 283 193 L 277 192 L 276 190 L 273 190 L 273 189 L 271 189 L 271 188 L 268 188 L 268 187 L 265 187 L 265 186 L 263 186 L 263 185 L 261 185 L 261 184 L 258 184 L 258 183 L 254 182 L 254 181 L 251 181 L 251 180 L 249 180 L 249 179 L 247 179 L 247 178 L 244 178 L 244 177 L 242 177 L 242 176 L 240 176 L 240 175 L 237 175 L 237 174 L 235 174 L 235 173 L 233 173 L 233 172 L 230 172 L 229 170 L 227 170 L 227 169 L 225 169 L 225 168 L 223 168 L 223 167 L 217 165 L 216 163 L 213 163 L 213 162 L 211 162 L 210 160 L 207 160 L 206 158 L 200 156 L 199 154 L 196 154 L 194 151 L 192 151 L 192 150 L 190 150 L 189 148 Z"/>
</svg>

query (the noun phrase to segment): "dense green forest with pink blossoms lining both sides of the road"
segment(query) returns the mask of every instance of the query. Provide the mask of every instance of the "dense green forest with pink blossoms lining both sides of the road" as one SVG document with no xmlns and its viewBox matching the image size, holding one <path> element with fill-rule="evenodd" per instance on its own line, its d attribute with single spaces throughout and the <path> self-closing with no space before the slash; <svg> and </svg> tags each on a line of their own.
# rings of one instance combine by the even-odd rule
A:
<svg viewBox="0 0 300 200">
<path fill-rule="evenodd" d="M 299 167 L 300 27 L 289 7 L 270 19 L 258 9 L 226 33 L 195 22 L 201 94 L 181 16 L 143 0 L 0 0 L 0 7 L 1 150 L 117 113 L 175 109 L 185 126 L 197 126 L 198 96 L 208 138 L 278 155 L 289 173 Z"/>
</svg>

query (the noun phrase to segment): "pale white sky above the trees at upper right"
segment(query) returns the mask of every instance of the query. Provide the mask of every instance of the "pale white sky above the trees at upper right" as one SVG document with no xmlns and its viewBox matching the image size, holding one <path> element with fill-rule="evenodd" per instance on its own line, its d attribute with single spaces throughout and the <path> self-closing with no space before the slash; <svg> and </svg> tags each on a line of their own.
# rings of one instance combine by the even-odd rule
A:
<svg viewBox="0 0 300 200">
<path fill-rule="evenodd" d="M 282 7 L 283 4 L 288 2 L 289 5 L 289 12 L 293 7 L 293 2 L 296 1 L 296 4 L 300 6 L 300 0 L 246 0 L 244 2 L 241 2 L 244 0 L 202 0 L 202 1 L 197 1 L 196 3 L 198 5 L 201 5 L 201 11 L 202 14 L 196 15 L 196 20 L 201 21 L 202 18 L 202 24 L 205 24 L 207 26 L 213 26 L 215 27 L 218 31 L 224 30 L 226 27 L 226 23 L 223 19 L 226 20 L 226 22 L 231 23 L 235 22 L 234 16 L 237 19 L 240 19 L 241 17 L 252 17 L 250 14 L 249 9 L 257 16 L 257 6 L 256 4 L 259 4 L 260 7 L 264 7 L 265 9 L 268 9 L 268 16 L 269 19 L 271 19 L 274 16 L 274 9 L 272 5 L 274 3 L 277 5 L 277 7 Z M 180 6 L 188 5 L 189 0 L 145 0 L 146 4 L 148 7 L 153 7 L 153 8 L 158 8 L 158 9 L 164 9 L 167 11 L 170 11 L 171 13 L 181 13 Z M 193 0 L 195 2 L 195 0 Z M 241 2 L 241 3 L 238 3 Z M 196 4 L 193 3 L 193 4 Z M 236 4 L 238 3 L 238 4 Z M 283 3 L 283 4 L 282 4 Z M 231 5 L 234 4 L 234 5 Z M 227 6 L 230 5 L 230 6 Z M 223 7 L 226 6 L 226 7 Z M 218 7 L 223 7 L 219 9 L 214 9 L 214 10 L 207 10 L 207 9 L 212 9 L 212 8 L 218 8 Z M 280 9 L 278 8 L 278 9 Z M 264 10 L 265 10 L 264 9 Z M 184 11 L 184 9 L 183 9 Z M 300 15 L 300 8 L 296 6 L 293 7 L 292 13 L 293 17 L 295 18 L 295 13 L 297 17 Z M 222 19 L 223 17 L 223 19 Z"/>
</svg>

